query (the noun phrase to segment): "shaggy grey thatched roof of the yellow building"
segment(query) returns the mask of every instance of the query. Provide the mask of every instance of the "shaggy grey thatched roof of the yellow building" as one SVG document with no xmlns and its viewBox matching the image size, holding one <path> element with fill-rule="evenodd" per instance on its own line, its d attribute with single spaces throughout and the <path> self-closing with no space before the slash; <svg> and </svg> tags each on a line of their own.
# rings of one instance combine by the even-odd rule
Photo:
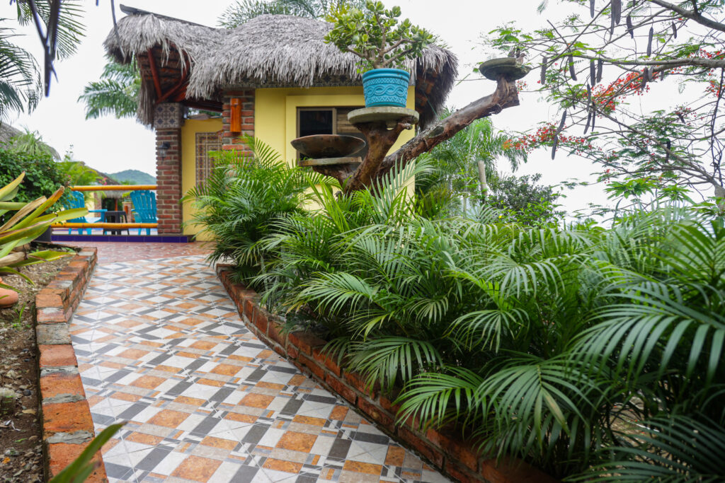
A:
<svg viewBox="0 0 725 483">
<path fill-rule="evenodd" d="M 360 85 L 357 57 L 324 43 L 331 24 L 291 15 L 262 15 L 231 30 L 210 28 L 138 9 L 129 13 L 108 35 L 105 46 L 117 62 L 136 56 L 144 77 L 138 116 L 153 121 L 157 89 L 151 75 L 149 51 L 157 64 L 157 80 L 173 88 L 188 75 L 184 99 L 188 104 L 221 101 L 224 88 L 312 87 Z M 437 46 L 408 62 L 416 86 L 416 110 L 421 124 L 436 118 L 457 75 L 457 59 Z"/>
</svg>

